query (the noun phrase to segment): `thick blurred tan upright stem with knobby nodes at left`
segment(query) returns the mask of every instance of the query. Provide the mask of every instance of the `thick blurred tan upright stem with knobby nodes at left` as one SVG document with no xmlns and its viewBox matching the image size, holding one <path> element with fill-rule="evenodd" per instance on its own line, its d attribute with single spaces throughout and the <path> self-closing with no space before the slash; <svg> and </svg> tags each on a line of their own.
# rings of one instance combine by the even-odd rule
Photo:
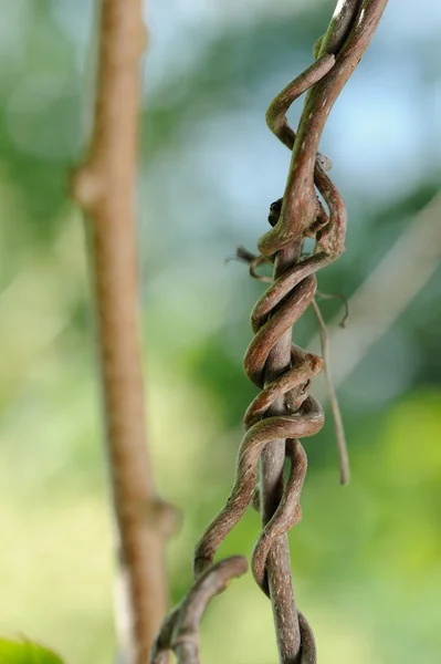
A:
<svg viewBox="0 0 441 664">
<path fill-rule="evenodd" d="M 156 499 L 147 456 L 138 324 L 134 181 L 145 41 L 140 0 L 103 0 L 92 142 L 73 178 L 73 196 L 90 220 L 107 456 L 125 585 L 118 629 L 124 629 L 122 654 L 130 664 L 145 664 L 165 614 L 162 543 L 169 515 Z"/>
</svg>

